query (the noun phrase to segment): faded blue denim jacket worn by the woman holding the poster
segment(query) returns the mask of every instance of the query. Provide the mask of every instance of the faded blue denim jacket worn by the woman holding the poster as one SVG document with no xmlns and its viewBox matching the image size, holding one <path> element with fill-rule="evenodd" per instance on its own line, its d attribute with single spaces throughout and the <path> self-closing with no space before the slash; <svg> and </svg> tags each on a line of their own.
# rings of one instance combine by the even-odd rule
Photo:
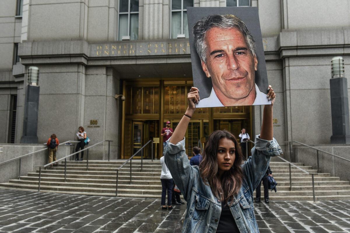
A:
<svg viewBox="0 0 350 233">
<path fill-rule="evenodd" d="M 244 179 L 238 195 L 228 202 L 233 218 L 241 233 L 258 233 L 254 215 L 253 191 L 265 175 L 271 156 L 282 155 L 277 141 L 266 141 L 255 136 L 243 168 Z M 167 141 L 165 161 L 173 179 L 187 201 L 187 213 L 182 233 L 215 233 L 221 215 L 221 201 L 205 185 L 198 166 L 191 166 L 185 152 L 185 138 L 176 145 Z"/>
</svg>

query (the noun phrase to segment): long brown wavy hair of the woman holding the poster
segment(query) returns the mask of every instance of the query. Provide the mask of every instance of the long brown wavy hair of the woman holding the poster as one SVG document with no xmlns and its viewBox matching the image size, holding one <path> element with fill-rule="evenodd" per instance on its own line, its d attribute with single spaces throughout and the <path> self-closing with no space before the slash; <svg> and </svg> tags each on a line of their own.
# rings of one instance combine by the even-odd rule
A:
<svg viewBox="0 0 350 233">
<path fill-rule="evenodd" d="M 227 138 L 235 143 L 235 161 L 229 171 L 225 171 L 222 180 L 219 179 L 219 168 L 217 161 L 217 152 L 219 142 L 222 138 Z M 201 177 L 206 185 L 209 185 L 211 191 L 221 200 L 232 201 L 233 195 L 237 195 L 243 182 L 243 170 L 240 167 L 242 163 L 242 150 L 236 140 L 236 137 L 227 130 L 216 130 L 209 135 L 205 142 L 203 150 L 203 160 L 199 168 Z"/>
</svg>

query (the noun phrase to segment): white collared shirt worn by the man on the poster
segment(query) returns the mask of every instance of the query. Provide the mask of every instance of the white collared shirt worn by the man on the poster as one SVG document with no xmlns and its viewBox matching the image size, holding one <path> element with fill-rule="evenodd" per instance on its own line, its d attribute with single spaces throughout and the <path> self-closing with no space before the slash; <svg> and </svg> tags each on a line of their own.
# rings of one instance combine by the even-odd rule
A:
<svg viewBox="0 0 350 233">
<path fill-rule="evenodd" d="M 254 103 L 252 105 L 267 105 L 271 104 L 271 100 L 268 100 L 267 95 L 261 92 L 258 85 L 255 83 L 255 92 L 257 96 L 255 97 Z M 211 89 L 210 96 L 201 99 L 196 107 L 224 107 L 220 102 L 219 98 L 216 96 L 214 88 Z"/>
</svg>

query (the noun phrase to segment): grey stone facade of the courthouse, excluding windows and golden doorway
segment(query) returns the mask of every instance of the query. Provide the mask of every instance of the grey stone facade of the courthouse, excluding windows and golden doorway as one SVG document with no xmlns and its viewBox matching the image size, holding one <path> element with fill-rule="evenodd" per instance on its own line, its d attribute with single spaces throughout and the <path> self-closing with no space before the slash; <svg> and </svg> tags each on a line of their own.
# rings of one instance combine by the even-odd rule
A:
<svg viewBox="0 0 350 233">
<path fill-rule="evenodd" d="M 60 140 L 72 140 L 78 126 L 97 120 L 99 127 L 85 127 L 89 136 L 113 140 L 112 150 L 119 151 L 121 102 L 114 95 L 122 93 L 121 80 L 192 75 L 188 39 L 169 39 L 170 3 L 140 0 L 139 40 L 121 42 L 117 0 L 24 0 L 22 16 L 15 16 L 16 1 L 3 0 L 0 142 L 9 138 L 11 95 L 18 96 L 15 142 L 20 141 L 27 69 L 35 65 L 39 142 L 53 131 Z M 201 7 L 225 4 L 194 0 Z M 268 78 L 278 95 L 275 137 L 281 145 L 329 143 L 330 60 L 342 55 L 345 70 L 350 68 L 349 1 L 252 0 L 251 6 L 259 9 Z M 14 43 L 20 43 L 16 65 Z M 253 107 L 255 134 L 261 118 L 262 106 Z"/>
</svg>

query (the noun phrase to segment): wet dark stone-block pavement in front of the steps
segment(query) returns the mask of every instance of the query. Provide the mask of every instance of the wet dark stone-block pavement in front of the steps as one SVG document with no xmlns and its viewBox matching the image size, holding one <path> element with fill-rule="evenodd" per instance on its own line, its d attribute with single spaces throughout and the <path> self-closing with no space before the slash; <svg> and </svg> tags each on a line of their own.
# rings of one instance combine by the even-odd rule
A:
<svg viewBox="0 0 350 233">
<path fill-rule="evenodd" d="M 350 201 L 255 203 L 260 233 L 350 232 Z M 186 206 L 159 199 L 0 189 L 0 233 L 180 233 Z"/>
</svg>

